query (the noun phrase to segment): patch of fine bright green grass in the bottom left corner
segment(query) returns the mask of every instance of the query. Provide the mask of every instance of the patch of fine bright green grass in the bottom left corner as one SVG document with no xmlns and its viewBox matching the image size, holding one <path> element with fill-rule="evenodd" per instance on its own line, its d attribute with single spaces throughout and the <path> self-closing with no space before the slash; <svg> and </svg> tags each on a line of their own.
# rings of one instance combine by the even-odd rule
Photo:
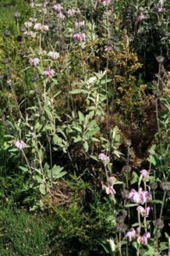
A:
<svg viewBox="0 0 170 256">
<path fill-rule="evenodd" d="M 50 230 L 50 218 L 41 213 L 4 209 L 0 212 L 0 255 L 48 254 Z"/>
</svg>

